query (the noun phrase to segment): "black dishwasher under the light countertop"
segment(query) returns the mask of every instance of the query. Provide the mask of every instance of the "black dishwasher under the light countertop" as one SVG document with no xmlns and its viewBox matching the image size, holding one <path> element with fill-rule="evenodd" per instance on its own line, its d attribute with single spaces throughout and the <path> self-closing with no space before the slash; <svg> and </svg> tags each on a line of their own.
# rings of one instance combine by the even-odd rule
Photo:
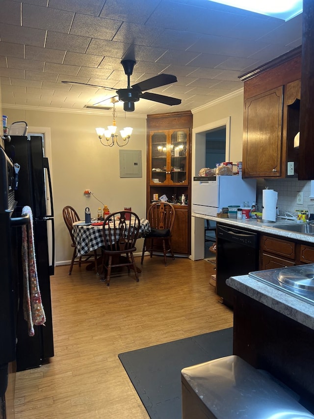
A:
<svg viewBox="0 0 314 419">
<path fill-rule="evenodd" d="M 259 269 L 259 234 L 217 223 L 216 289 L 226 306 L 233 307 L 233 288 L 226 279 Z"/>
</svg>

